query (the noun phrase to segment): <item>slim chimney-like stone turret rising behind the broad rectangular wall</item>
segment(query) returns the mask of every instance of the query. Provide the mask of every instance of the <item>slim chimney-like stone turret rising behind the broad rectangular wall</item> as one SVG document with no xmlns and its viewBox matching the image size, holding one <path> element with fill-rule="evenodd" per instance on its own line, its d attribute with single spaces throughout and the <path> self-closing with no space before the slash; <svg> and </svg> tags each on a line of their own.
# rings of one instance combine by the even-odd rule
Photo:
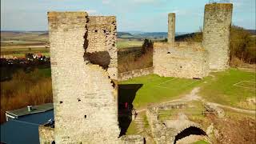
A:
<svg viewBox="0 0 256 144">
<path fill-rule="evenodd" d="M 175 41 L 175 13 L 168 14 L 168 42 Z"/>
</svg>

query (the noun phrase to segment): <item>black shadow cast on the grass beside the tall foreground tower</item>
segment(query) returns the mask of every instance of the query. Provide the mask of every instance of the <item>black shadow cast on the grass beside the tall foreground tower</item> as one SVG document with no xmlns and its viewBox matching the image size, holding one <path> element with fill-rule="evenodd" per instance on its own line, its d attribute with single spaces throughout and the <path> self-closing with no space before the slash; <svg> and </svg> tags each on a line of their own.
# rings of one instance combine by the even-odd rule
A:
<svg viewBox="0 0 256 144">
<path fill-rule="evenodd" d="M 119 136 L 126 134 L 126 130 L 130 126 L 134 98 L 142 86 L 142 84 L 118 85 L 118 122 L 121 129 Z"/>
</svg>

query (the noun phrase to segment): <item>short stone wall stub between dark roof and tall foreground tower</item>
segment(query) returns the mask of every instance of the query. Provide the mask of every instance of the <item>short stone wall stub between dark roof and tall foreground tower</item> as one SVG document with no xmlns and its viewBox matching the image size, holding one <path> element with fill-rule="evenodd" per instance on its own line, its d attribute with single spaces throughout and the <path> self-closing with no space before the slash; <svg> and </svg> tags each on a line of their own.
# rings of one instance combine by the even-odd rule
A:
<svg viewBox="0 0 256 144">
<path fill-rule="evenodd" d="M 54 128 L 50 126 L 39 126 L 38 132 L 40 144 L 50 144 L 54 141 Z"/>
</svg>

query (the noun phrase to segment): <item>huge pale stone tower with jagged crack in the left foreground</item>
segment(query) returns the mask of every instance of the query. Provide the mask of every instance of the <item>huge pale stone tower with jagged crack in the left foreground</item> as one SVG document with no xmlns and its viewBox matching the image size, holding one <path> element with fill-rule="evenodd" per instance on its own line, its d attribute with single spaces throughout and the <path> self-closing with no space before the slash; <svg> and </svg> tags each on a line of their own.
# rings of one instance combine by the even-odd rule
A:
<svg viewBox="0 0 256 144">
<path fill-rule="evenodd" d="M 117 70 L 108 73 L 108 67 L 114 67 L 116 54 L 106 46 L 116 39 L 108 40 L 116 35 L 115 18 L 88 18 L 85 12 L 50 12 L 48 21 L 55 142 L 117 143 L 118 95 L 110 78 L 118 74 Z M 98 29 L 102 23 L 108 27 L 106 34 L 111 35 L 105 37 L 103 46 L 104 30 Z M 93 26 L 98 32 L 90 37 Z M 115 49 L 115 45 L 111 48 Z M 102 57 L 110 59 L 110 64 L 96 61 Z"/>
</svg>

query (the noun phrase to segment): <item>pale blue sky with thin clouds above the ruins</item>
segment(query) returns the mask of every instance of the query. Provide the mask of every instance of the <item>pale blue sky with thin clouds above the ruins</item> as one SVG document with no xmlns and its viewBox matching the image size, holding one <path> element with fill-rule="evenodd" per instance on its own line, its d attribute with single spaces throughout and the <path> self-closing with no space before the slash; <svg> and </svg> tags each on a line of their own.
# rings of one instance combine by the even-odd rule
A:
<svg viewBox="0 0 256 144">
<path fill-rule="evenodd" d="M 233 23 L 255 29 L 255 0 L 234 3 Z M 167 31 L 167 14 L 176 13 L 176 31 L 194 32 L 203 25 L 209 0 L 1 0 L 1 30 L 47 30 L 47 11 L 86 10 L 115 15 L 118 31 Z"/>
</svg>

